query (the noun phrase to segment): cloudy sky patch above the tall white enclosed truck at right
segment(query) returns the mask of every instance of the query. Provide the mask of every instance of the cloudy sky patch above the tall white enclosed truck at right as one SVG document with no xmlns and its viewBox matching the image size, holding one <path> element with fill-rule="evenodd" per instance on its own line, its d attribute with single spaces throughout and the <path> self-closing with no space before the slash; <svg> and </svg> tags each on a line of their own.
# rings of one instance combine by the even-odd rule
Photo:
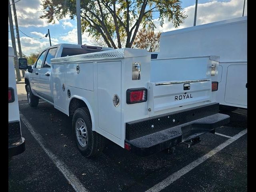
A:
<svg viewBox="0 0 256 192">
<path fill-rule="evenodd" d="M 230 0 L 229 2 L 218 2 L 213 0 L 212 2 L 198 4 L 196 25 L 227 20 L 231 18 L 241 17 L 243 12 L 244 1 L 243 0 Z M 156 32 L 166 32 L 186 27 L 191 27 L 194 24 L 195 5 L 184 8 L 185 14 L 188 17 L 184 20 L 183 24 L 180 24 L 178 28 L 174 28 L 172 22 L 168 22 L 164 19 L 163 27 L 160 26 L 160 21 L 154 20 L 156 24 Z M 244 16 L 247 15 L 247 1 L 244 8 Z"/>
</svg>

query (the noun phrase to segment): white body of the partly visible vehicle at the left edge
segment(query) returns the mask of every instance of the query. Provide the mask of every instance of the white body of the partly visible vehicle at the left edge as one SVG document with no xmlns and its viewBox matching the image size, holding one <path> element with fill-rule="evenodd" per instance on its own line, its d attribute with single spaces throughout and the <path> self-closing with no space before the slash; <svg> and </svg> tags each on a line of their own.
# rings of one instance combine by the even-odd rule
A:
<svg viewBox="0 0 256 192">
<path fill-rule="evenodd" d="M 8 47 L 8 87 L 14 90 L 14 102 L 8 104 L 8 121 L 20 121 L 18 93 L 14 72 L 14 50 L 12 47 Z"/>
</svg>

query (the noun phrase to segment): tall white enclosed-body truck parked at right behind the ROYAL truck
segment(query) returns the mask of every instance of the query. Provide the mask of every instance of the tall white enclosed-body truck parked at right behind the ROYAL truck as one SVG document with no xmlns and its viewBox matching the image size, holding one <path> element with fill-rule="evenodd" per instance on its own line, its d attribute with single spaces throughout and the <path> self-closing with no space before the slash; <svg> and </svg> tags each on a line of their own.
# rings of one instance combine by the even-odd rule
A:
<svg viewBox="0 0 256 192">
<path fill-rule="evenodd" d="M 225 110 L 247 108 L 247 16 L 164 32 L 152 63 L 209 54 L 220 56 L 212 77 L 219 82 L 216 102 Z"/>
</svg>

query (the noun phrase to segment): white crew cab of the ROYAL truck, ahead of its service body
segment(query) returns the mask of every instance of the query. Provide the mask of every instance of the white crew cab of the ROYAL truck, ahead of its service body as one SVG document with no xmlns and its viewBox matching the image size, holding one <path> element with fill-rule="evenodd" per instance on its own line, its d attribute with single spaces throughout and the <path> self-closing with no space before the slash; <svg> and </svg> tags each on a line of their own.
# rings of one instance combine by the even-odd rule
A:
<svg viewBox="0 0 256 192">
<path fill-rule="evenodd" d="M 42 51 L 36 62 L 25 73 L 25 84 L 30 106 L 37 106 L 38 98 L 42 98 L 54 104 L 52 81 L 52 58 L 80 55 L 92 52 L 112 50 L 113 48 L 76 45 L 76 44 L 57 44 L 50 46 Z"/>
</svg>

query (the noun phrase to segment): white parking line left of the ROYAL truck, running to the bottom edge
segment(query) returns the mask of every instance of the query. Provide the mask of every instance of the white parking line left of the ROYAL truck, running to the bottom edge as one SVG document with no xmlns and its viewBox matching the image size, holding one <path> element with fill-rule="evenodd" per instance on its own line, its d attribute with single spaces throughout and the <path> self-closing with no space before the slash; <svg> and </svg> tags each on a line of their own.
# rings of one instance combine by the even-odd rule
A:
<svg viewBox="0 0 256 192">
<path fill-rule="evenodd" d="M 39 145 L 43 148 L 44 152 L 46 152 L 46 154 L 50 157 L 52 162 L 62 172 L 62 174 L 65 176 L 68 182 L 70 182 L 74 190 L 76 192 L 89 192 L 86 188 L 84 188 L 84 186 L 78 180 L 78 178 L 74 174 L 72 174 L 70 170 L 68 170 L 67 166 L 62 161 L 60 161 L 58 157 L 55 156 L 50 150 L 46 149 L 46 147 L 43 144 L 42 136 L 34 130 L 33 126 L 28 122 L 28 120 L 24 117 L 24 115 L 20 114 L 20 119 L 26 125 L 26 127 L 34 136 L 34 138 L 39 143 Z"/>
</svg>

